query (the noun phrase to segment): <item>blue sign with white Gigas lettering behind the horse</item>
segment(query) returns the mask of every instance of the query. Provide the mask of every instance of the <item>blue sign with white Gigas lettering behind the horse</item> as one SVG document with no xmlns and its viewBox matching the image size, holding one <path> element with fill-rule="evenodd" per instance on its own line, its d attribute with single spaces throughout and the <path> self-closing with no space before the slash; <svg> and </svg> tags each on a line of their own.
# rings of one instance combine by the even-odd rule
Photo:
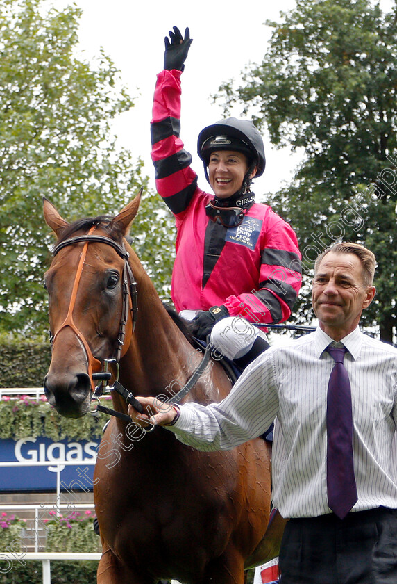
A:
<svg viewBox="0 0 397 584">
<path fill-rule="evenodd" d="M 56 491 L 57 463 L 80 461 L 76 465 L 62 465 L 60 489 L 62 492 L 92 491 L 97 441 L 53 442 L 49 438 L 22 438 L 0 440 L 1 462 L 26 462 L 23 467 L 0 467 L 0 491 Z M 83 461 L 83 462 L 81 462 Z M 84 464 L 84 462 L 90 464 Z M 35 462 L 48 462 L 35 466 Z"/>
</svg>

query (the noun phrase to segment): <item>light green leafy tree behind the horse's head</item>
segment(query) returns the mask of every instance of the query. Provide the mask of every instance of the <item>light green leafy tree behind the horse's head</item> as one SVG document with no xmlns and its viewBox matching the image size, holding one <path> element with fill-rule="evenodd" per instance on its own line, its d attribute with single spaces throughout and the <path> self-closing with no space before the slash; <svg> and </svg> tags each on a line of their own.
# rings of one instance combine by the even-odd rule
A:
<svg viewBox="0 0 397 584">
<path fill-rule="evenodd" d="M 68 220 L 114 214 L 147 184 L 142 163 L 117 149 L 112 119 L 133 106 L 112 60 L 76 58 L 81 10 L 44 13 L 42 0 L 0 0 L 0 330 L 47 329 L 42 275 L 51 234 L 42 197 Z M 171 219 L 144 200 L 134 227 L 160 293 L 168 297 Z M 162 205 L 158 204 L 161 207 Z M 156 234 L 158 237 L 156 238 Z M 168 257 L 159 261 L 159 252 Z"/>
</svg>

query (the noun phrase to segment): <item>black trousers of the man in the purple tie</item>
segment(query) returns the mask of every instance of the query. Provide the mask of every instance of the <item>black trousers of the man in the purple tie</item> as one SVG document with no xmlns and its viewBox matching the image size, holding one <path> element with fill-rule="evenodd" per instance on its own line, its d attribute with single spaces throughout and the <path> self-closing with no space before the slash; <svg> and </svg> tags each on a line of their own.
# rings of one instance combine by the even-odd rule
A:
<svg viewBox="0 0 397 584">
<path fill-rule="evenodd" d="M 290 519 L 279 566 L 281 584 L 397 584 L 397 510 Z"/>
</svg>

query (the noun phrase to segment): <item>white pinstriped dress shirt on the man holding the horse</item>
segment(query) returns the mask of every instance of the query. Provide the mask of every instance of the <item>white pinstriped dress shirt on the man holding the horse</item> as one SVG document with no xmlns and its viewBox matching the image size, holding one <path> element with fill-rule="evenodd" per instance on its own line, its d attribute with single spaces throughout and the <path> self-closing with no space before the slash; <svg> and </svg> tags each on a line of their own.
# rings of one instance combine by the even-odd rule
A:
<svg viewBox="0 0 397 584">
<path fill-rule="evenodd" d="M 229 396 L 208 406 L 186 403 L 169 430 L 202 451 L 260 436 L 276 418 L 273 501 L 283 517 L 330 513 L 326 487 L 326 403 L 334 361 L 323 330 L 270 348 L 246 368 Z M 395 478 L 397 349 L 359 328 L 341 343 L 353 405 L 358 501 L 354 511 L 397 508 Z"/>
</svg>

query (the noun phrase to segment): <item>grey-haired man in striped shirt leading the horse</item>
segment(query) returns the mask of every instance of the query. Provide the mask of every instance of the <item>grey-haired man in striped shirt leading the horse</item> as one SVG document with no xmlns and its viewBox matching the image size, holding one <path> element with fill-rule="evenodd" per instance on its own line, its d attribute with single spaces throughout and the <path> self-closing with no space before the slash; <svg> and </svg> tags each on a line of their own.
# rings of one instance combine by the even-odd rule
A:
<svg viewBox="0 0 397 584">
<path fill-rule="evenodd" d="M 282 584 L 397 582 L 397 349 L 358 327 L 375 295 L 374 271 L 375 257 L 362 245 L 339 243 L 323 252 L 312 289 L 319 327 L 257 357 L 221 403 L 179 408 L 139 398 L 150 407 L 151 423 L 203 451 L 253 439 L 277 416 L 273 501 L 291 518 L 280 549 Z M 327 391 L 335 365 L 329 346 L 347 350 L 353 412 L 357 501 L 344 519 L 328 505 Z M 132 408 L 130 414 L 138 420 Z"/>
</svg>

